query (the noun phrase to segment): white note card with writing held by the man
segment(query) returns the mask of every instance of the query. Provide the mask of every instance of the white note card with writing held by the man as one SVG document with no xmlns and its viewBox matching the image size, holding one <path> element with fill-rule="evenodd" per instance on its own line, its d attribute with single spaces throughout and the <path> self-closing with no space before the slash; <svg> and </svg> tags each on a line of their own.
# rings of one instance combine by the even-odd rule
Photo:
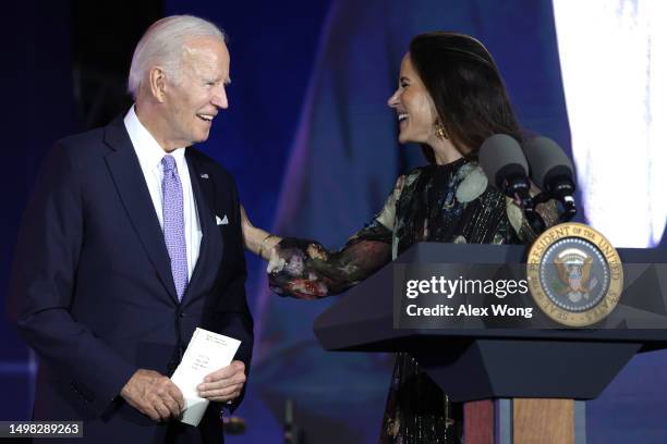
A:
<svg viewBox="0 0 667 444">
<path fill-rule="evenodd" d="M 197 385 L 204 382 L 207 374 L 229 366 L 240 345 L 241 341 L 233 337 L 204 329 L 195 330 L 181 363 L 171 377 L 185 399 L 181 422 L 195 427 L 199 424 L 208 399 L 198 396 Z"/>
</svg>

